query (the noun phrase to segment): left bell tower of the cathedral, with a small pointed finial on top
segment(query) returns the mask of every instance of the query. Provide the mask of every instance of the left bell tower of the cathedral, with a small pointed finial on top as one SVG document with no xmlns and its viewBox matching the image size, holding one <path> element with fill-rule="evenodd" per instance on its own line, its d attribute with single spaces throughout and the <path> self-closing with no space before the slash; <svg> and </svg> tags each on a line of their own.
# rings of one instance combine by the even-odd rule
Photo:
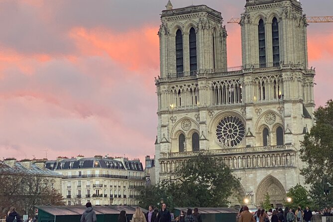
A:
<svg viewBox="0 0 333 222">
<path fill-rule="evenodd" d="M 161 78 L 226 71 L 226 31 L 221 12 L 206 5 L 173 9 L 169 0 L 161 22 Z"/>
</svg>

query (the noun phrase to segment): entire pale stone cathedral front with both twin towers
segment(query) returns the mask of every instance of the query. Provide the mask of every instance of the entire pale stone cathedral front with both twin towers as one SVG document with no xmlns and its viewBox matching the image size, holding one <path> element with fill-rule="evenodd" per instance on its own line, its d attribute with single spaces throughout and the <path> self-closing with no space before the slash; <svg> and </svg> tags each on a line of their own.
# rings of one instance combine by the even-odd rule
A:
<svg viewBox="0 0 333 222">
<path fill-rule="evenodd" d="M 283 204 L 304 183 L 300 141 L 314 124 L 308 24 L 297 0 L 246 0 L 239 25 L 242 66 L 230 71 L 221 12 L 170 1 L 162 11 L 156 180 L 210 152 L 241 178 L 232 205 L 266 193 Z"/>
</svg>

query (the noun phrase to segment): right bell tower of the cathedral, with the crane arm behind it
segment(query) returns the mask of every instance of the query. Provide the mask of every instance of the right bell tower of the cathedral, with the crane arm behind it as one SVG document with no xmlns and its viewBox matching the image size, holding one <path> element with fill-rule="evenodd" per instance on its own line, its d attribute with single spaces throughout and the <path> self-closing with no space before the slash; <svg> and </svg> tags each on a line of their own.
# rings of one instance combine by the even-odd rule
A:
<svg viewBox="0 0 333 222">
<path fill-rule="evenodd" d="M 308 67 L 307 20 L 297 0 L 246 0 L 241 15 L 242 65 Z"/>
</svg>

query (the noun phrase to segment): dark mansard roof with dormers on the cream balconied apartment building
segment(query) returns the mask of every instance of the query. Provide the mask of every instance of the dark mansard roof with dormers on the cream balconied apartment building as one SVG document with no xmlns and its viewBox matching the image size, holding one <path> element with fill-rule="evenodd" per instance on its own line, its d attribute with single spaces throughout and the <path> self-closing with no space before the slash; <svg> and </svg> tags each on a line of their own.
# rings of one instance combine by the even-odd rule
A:
<svg viewBox="0 0 333 222">
<path fill-rule="evenodd" d="M 119 170 L 137 170 L 143 171 L 142 163 L 138 160 L 127 160 L 123 162 L 114 160 L 112 158 L 71 158 L 62 159 L 58 162 L 56 160 L 46 161 L 45 167 L 50 170 L 67 170 L 67 169 L 80 169 L 80 168 L 105 168 L 105 169 L 119 169 Z"/>
</svg>

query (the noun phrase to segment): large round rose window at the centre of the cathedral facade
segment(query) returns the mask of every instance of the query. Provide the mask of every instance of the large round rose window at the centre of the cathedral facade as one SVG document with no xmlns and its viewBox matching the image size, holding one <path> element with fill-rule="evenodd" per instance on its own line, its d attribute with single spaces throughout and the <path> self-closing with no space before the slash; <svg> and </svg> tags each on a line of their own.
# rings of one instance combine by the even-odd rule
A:
<svg viewBox="0 0 333 222">
<path fill-rule="evenodd" d="M 245 136 L 244 123 L 236 116 L 225 116 L 216 127 L 216 136 L 223 146 L 236 146 Z"/>
</svg>

